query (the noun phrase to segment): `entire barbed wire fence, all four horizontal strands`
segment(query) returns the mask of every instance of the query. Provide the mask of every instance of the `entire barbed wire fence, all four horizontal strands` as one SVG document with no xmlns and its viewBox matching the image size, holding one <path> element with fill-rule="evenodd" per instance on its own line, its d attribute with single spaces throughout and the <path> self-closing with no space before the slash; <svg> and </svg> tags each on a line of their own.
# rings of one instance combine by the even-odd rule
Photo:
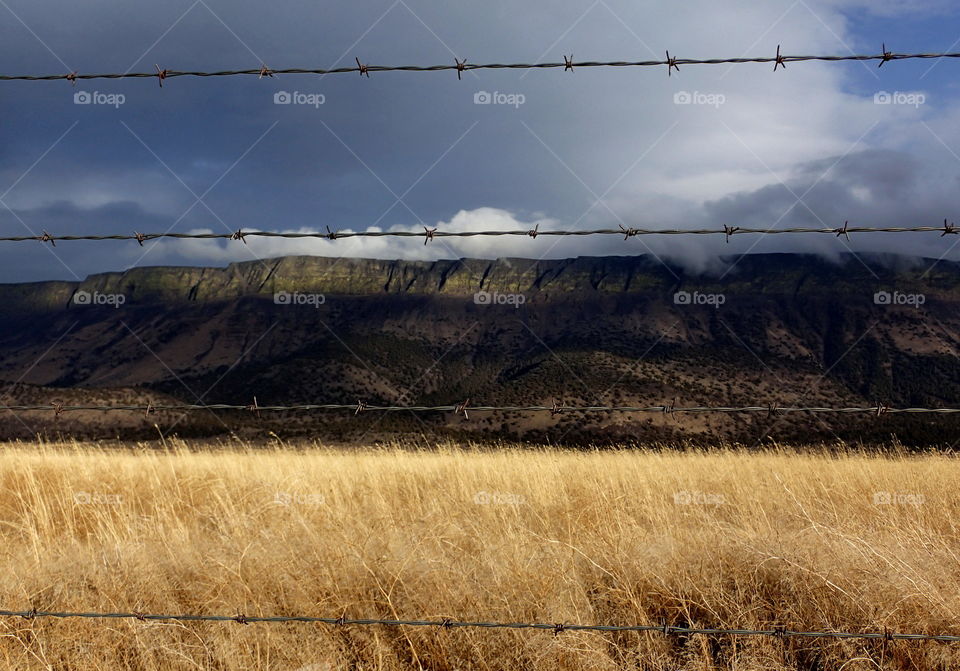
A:
<svg viewBox="0 0 960 671">
<path fill-rule="evenodd" d="M 239 75 L 255 75 L 258 78 L 273 77 L 275 75 L 286 74 L 347 74 L 358 73 L 361 76 L 369 77 L 373 72 L 439 72 L 455 70 L 457 78 L 460 79 L 463 72 L 475 70 L 499 70 L 499 69 L 522 69 L 522 70 L 540 70 L 563 68 L 564 71 L 574 71 L 577 68 L 598 68 L 598 67 L 667 67 L 667 74 L 674 71 L 679 72 L 680 66 L 689 65 L 718 65 L 718 64 L 745 64 L 745 63 L 773 63 L 774 71 L 783 68 L 786 69 L 788 63 L 822 61 L 822 62 L 843 62 L 843 61 L 878 61 L 878 66 L 883 66 L 889 61 L 907 60 L 907 59 L 940 59 L 940 58 L 960 58 L 960 53 L 912 53 L 898 54 L 888 51 L 886 45 L 882 47 L 880 54 L 874 55 L 847 55 L 847 56 L 829 56 L 829 55 L 797 55 L 790 56 L 780 53 L 780 47 L 777 47 L 777 53 L 772 57 L 755 58 L 711 58 L 711 59 L 688 59 L 671 57 L 670 52 L 666 52 L 665 60 L 648 61 L 574 61 L 573 56 L 564 56 L 563 62 L 549 63 L 488 63 L 473 64 L 468 63 L 466 59 L 455 59 L 454 64 L 446 65 L 370 65 L 364 64 L 359 58 L 356 58 L 356 67 L 342 67 L 331 69 L 310 69 L 310 68 L 288 68 L 288 69 L 270 69 L 262 65 L 257 69 L 248 70 L 223 70 L 223 71 L 178 71 L 161 69 L 156 67 L 156 72 L 124 72 L 108 74 L 80 74 L 71 72 L 63 75 L 0 75 L 0 81 L 51 81 L 66 80 L 75 84 L 79 80 L 90 79 L 133 79 L 133 78 L 157 78 L 160 86 L 163 86 L 164 80 L 176 77 L 227 77 Z M 324 233 L 282 233 L 270 231 L 244 231 L 238 229 L 233 233 L 213 234 L 213 233 L 138 233 L 111 234 L 111 235 L 51 235 L 44 231 L 39 236 L 8 236 L 0 237 L 4 242 L 22 242 L 22 241 L 40 241 L 49 242 L 55 245 L 57 241 L 105 241 L 105 240 L 136 240 L 140 245 L 144 242 L 157 240 L 161 238 L 169 239 L 229 239 L 246 242 L 248 237 L 276 237 L 276 238 L 325 238 L 337 240 L 351 237 L 423 237 L 424 244 L 441 237 L 488 237 L 488 236 L 529 236 L 536 238 L 538 236 L 587 236 L 587 235 L 623 235 L 624 239 L 639 235 L 724 235 L 729 242 L 734 235 L 743 234 L 832 234 L 837 237 L 848 237 L 851 233 L 919 233 L 936 232 L 941 236 L 956 234 L 958 231 L 953 224 L 944 220 L 943 226 L 915 226 L 915 227 L 857 227 L 849 226 L 845 222 L 842 228 L 784 228 L 784 229 L 756 229 L 747 227 L 724 226 L 723 229 L 641 229 L 625 228 L 621 226 L 618 229 L 600 229 L 587 231 L 540 231 L 538 228 L 531 230 L 510 230 L 510 231 L 461 231 L 448 232 L 438 231 L 436 228 L 424 227 L 423 233 L 409 231 L 360 231 L 360 232 L 334 232 L 327 228 Z M 2 405 L 0 411 L 52 411 L 59 417 L 65 412 L 74 411 L 135 411 L 144 412 L 149 415 L 151 412 L 174 410 L 174 411 L 194 411 L 194 410 L 241 410 L 251 411 L 258 416 L 261 412 L 285 412 L 285 411 L 353 411 L 354 414 L 361 412 L 453 412 L 462 414 L 464 418 L 468 417 L 468 410 L 471 412 L 550 412 L 552 415 L 564 412 L 629 412 L 629 413 L 726 413 L 726 414 L 767 414 L 778 415 L 784 413 L 833 413 L 833 414 L 863 414 L 881 417 L 887 414 L 937 414 L 947 415 L 960 413 L 960 408 L 892 408 L 877 403 L 872 407 L 780 407 L 776 404 L 753 405 L 742 407 L 724 407 L 724 406 L 692 406 L 677 407 L 674 404 L 666 406 L 571 406 L 560 402 L 554 402 L 550 406 L 532 405 L 532 406 L 469 406 L 467 401 L 448 405 L 435 406 L 377 406 L 369 405 L 363 401 L 356 404 L 302 404 L 302 405 L 267 405 L 260 406 L 254 398 L 249 405 L 230 405 L 230 404 L 170 404 L 170 405 L 65 405 L 62 403 L 51 403 L 47 405 Z M 209 621 L 209 622 L 235 622 L 239 624 L 253 623 L 316 623 L 329 624 L 336 626 L 347 625 L 380 625 L 392 627 L 436 627 L 440 629 L 454 628 L 483 628 L 483 629 L 517 629 L 517 630 L 540 630 L 550 631 L 558 635 L 568 631 L 595 631 L 595 632 L 660 632 L 664 635 L 674 636 L 771 636 L 781 639 L 786 638 L 832 638 L 832 639 L 864 639 L 881 640 L 891 642 L 898 640 L 909 641 L 938 641 L 938 642 L 957 642 L 960 636 L 947 634 L 925 634 L 925 633 L 895 633 L 887 629 L 873 632 L 844 632 L 844 631 L 803 631 L 791 630 L 785 626 L 778 626 L 772 629 L 752 630 L 752 629 L 728 629 L 728 628 L 696 628 L 687 626 L 672 626 L 666 623 L 660 625 L 586 625 L 586 624 L 565 624 L 565 623 L 534 623 L 534 622 L 477 622 L 460 621 L 445 618 L 443 620 L 399 620 L 399 619 L 347 619 L 343 616 L 338 618 L 324 618 L 311 616 L 246 616 L 238 614 L 228 615 L 203 615 L 203 614 L 157 614 L 142 612 L 58 612 L 58 611 L 38 611 L 32 609 L 29 611 L 0 610 L 0 616 L 21 617 L 29 620 L 35 618 L 88 618 L 88 619 L 132 619 L 141 622 L 146 621 Z"/>
</svg>

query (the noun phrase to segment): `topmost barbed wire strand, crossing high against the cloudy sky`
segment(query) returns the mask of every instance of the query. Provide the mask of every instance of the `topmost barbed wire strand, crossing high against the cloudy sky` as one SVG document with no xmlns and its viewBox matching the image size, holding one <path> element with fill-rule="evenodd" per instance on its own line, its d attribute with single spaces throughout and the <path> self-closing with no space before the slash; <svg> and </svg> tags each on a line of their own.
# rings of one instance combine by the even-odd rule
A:
<svg viewBox="0 0 960 671">
<path fill-rule="evenodd" d="M 371 72 L 443 72 L 453 70 L 457 73 L 457 79 L 462 78 L 464 72 L 473 70 L 549 70 L 563 68 L 564 71 L 573 72 L 576 68 L 623 68 L 623 67 L 667 67 L 667 74 L 679 72 L 681 65 L 740 65 L 744 63 L 773 63 L 774 72 L 779 68 L 786 69 L 787 63 L 801 63 L 805 61 L 822 62 L 842 62 L 842 61 L 879 61 L 878 67 L 889 61 L 902 61 L 910 59 L 940 59 L 940 58 L 960 58 L 960 53 L 913 53 L 898 54 L 887 51 L 886 44 L 883 44 L 882 52 L 879 54 L 846 56 L 830 55 L 806 55 L 806 56 L 788 56 L 780 53 L 780 45 L 777 45 L 777 53 L 774 56 L 760 57 L 739 57 L 739 58 L 677 58 L 666 52 L 664 60 L 647 61 L 574 61 L 573 55 L 564 55 L 563 62 L 549 63 L 468 63 L 467 59 L 460 60 L 454 58 L 453 64 L 441 65 L 371 65 L 360 61 L 359 57 L 354 58 L 356 67 L 339 68 L 279 68 L 272 69 L 261 64 L 258 68 L 246 70 L 217 70 L 217 71 L 191 71 L 191 70 L 169 70 L 156 65 L 156 72 L 112 72 L 102 74 L 81 74 L 79 72 L 69 72 L 59 75 L 0 75 L 0 81 L 52 81 L 66 80 L 73 84 L 77 81 L 89 79 L 153 79 L 156 78 L 160 86 L 166 79 L 175 77 L 234 77 L 242 75 L 255 75 L 258 79 L 264 77 L 273 77 L 274 75 L 333 75 L 358 73 L 361 77 L 369 77 Z"/>
</svg>

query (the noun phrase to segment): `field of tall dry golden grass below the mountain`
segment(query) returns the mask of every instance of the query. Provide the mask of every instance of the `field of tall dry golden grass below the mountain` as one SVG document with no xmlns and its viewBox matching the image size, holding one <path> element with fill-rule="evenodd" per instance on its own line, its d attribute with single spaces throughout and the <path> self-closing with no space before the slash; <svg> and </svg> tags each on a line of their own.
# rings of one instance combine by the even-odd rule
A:
<svg viewBox="0 0 960 671">
<path fill-rule="evenodd" d="M 945 455 L 0 447 L 4 609 L 960 633 Z M 0 664 L 956 669 L 960 644 L 2 617 Z"/>
</svg>

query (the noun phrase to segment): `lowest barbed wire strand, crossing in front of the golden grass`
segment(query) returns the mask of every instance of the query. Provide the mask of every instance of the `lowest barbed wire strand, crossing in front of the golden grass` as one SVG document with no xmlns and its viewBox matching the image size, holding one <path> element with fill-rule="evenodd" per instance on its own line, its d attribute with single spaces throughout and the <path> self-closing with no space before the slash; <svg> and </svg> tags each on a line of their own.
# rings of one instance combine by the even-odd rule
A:
<svg viewBox="0 0 960 671">
<path fill-rule="evenodd" d="M 669 624 L 637 624 L 637 625 L 607 625 L 607 624 L 566 624 L 543 622 L 470 622 L 444 618 L 442 620 L 393 620 L 379 618 L 348 619 L 346 617 L 311 617 L 305 615 L 278 615 L 278 616 L 247 616 L 237 615 L 166 615 L 158 613 L 101 613 L 101 612 L 58 612 L 32 610 L 0 610 L 0 617 L 21 617 L 28 620 L 35 618 L 91 618 L 91 619 L 130 619 L 145 622 L 148 620 L 173 620 L 180 622 L 236 622 L 238 624 L 255 623 L 284 623 L 303 622 L 311 624 L 346 625 L 382 625 L 390 627 L 437 627 L 439 629 L 454 628 L 482 628 L 482 629 L 537 629 L 560 634 L 565 631 L 598 631 L 598 632 L 660 632 L 665 635 L 691 636 L 702 634 L 706 636 L 773 636 L 777 638 L 843 638 L 843 639 L 879 639 L 885 641 L 939 641 L 953 643 L 960 641 L 960 636 L 953 634 L 901 634 L 884 629 L 874 632 L 849 631 L 802 631 L 792 630 L 785 626 L 776 626 L 771 629 L 724 629 L 676 627 Z"/>
</svg>

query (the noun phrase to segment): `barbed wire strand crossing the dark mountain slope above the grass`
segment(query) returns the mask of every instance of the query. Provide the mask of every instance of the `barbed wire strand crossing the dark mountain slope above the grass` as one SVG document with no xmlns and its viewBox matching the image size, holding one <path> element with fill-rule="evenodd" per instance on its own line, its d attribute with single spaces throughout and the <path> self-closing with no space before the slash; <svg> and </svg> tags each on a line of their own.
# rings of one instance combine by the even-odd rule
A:
<svg viewBox="0 0 960 671">
<path fill-rule="evenodd" d="M 631 412 L 631 413 L 662 413 L 662 414 L 702 414 L 702 413 L 723 413 L 723 414 L 767 414 L 783 415 L 788 413 L 829 413 L 838 415 L 882 415 L 895 414 L 936 414 L 936 415 L 954 415 L 960 413 L 960 408 L 894 408 L 882 403 L 868 407 L 823 407 L 823 406 L 781 406 L 776 403 L 768 405 L 749 405 L 749 406 L 677 406 L 676 402 L 670 405 L 565 405 L 563 402 L 554 401 L 552 405 L 470 405 L 470 399 L 448 405 L 370 405 L 365 401 L 356 403 L 323 403 L 312 404 L 304 403 L 299 405 L 259 405 L 256 397 L 253 403 L 246 405 L 230 403 L 174 403 L 174 404 L 153 404 L 147 405 L 67 405 L 64 403 L 49 404 L 24 404 L 24 405 L 0 405 L 0 412 L 30 412 L 30 411 L 52 411 L 56 416 L 65 412 L 78 411 L 102 411 L 102 412 L 143 412 L 149 415 L 160 411 L 190 412 L 197 410 L 242 410 L 256 413 L 261 412 L 288 412 L 288 411 L 327 411 L 327 410 L 350 410 L 355 415 L 362 412 L 452 412 L 457 415 L 463 415 L 469 418 L 469 412 L 549 412 L 552 415 L 559 415 L 571 412 Z"/>
</svg>

